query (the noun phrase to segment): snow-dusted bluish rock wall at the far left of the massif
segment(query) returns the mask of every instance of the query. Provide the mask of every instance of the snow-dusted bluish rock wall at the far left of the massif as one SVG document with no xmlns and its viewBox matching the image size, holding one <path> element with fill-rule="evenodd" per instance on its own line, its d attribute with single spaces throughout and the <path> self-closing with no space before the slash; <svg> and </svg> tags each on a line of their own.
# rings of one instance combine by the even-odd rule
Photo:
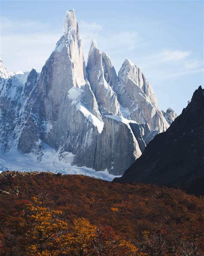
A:
<svg viewBox="0 0 204 256">
<path fill-rule="evenodd" d="M 31 112 L 35 87 L 39 74 L 31 70 L 30 74 L 18 74 L 12 78 L 0 78 L 0 150 L 8 151 L 17 147 L 25 122 Z M 27 82 L 24 81 L 27 79 Z M 37 93 L 36 93 L 37 94 Z M 32 132 L 29 131 L 32 135 Z M 32 143 L 25 141 L 25 145 Z"/>
</svg>

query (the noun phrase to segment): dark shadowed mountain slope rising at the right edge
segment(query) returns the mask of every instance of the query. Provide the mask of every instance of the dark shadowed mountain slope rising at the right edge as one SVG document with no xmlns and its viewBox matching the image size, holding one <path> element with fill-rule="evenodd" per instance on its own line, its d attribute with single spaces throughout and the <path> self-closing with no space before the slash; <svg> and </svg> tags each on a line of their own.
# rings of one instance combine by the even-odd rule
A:
<svg viewBox="0 0 204 256">
<path fill-rule="evenodd" d="M 170 128 L 147 145 L 117 182 L 162 184 L 204 195 L 204 90 L 193 94 Z"/>
</svg>

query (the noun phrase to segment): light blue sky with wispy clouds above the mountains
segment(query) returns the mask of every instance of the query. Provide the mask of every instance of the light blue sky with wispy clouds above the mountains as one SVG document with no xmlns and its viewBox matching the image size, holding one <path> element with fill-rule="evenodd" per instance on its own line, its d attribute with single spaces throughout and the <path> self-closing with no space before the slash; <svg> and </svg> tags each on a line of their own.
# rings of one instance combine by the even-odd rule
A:
<svg viewBox="0 0 204 256">
<path fill-rule="evenodd" d="M 119 71 L 142 70 L 162 110 L 177 114 L 204 86 L 203 0 L 0 0 L 0 58 L 10 71 L 40 72 L 75 10 L 85 60 L 95 39 Z"/>
</svg>

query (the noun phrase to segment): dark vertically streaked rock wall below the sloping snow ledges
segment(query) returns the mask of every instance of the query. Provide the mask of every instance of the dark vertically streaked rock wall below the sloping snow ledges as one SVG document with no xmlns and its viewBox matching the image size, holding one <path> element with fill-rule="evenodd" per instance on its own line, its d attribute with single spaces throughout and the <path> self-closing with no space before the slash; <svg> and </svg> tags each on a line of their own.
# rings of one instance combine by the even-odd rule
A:
<svg viewBox="0 0 204 256">
<path fill-rule="evenodd" d="M 94 130 L 87 134 L 74 157 L 74 164 L 93 166 L 97 171 L 107 170 L 111 174 L 121 175 L 125 166 L 142 154 L 130 125 L 116 118 L 120 117 L 104 116 L 101 134 L 97 135 Z"/>
</svg>

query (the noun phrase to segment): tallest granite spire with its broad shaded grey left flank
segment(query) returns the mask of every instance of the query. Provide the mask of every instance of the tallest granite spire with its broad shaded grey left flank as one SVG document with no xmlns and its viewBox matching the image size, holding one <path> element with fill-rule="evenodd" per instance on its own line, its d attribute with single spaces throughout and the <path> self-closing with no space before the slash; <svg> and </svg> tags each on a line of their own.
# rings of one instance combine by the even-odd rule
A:
<svg viewBox="0 0 204 256">
<path fill-rule="evenodd" d="M 53 102 L 54 111 L 58 111 L 68 90 L 73 86 L 80 88 L 87 83 L 83 49 L 74 10 L 66 12 L 63 34 L 46 61 L 39 80 L 40 90 L 48 102 Z M 52 118 L 49 110 L 50 114 Z"/>
</svg>

